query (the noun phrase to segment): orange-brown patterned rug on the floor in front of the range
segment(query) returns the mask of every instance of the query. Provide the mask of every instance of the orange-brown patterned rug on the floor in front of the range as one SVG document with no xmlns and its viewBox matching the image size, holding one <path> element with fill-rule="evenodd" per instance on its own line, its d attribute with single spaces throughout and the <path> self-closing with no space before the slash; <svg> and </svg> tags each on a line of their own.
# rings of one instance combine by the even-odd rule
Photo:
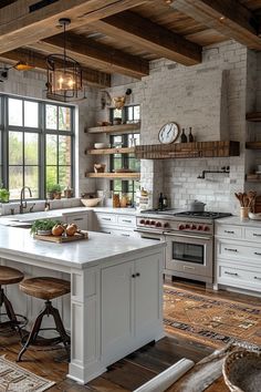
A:
<svg viewBox="0 0 261 392">
<path fill-rule="evenodd" d="M 166 332 L 215 348 L 228 343 L 261 349 L 261 306 L 164 288 Z"/>
</svg>

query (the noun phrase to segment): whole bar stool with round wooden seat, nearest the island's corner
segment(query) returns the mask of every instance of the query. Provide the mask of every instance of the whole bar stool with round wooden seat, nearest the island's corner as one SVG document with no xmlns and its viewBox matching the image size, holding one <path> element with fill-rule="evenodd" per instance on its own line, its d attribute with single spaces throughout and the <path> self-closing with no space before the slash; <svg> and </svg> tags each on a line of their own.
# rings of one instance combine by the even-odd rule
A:
<svg viewBox="0 0 261 392">
<path fill-rule="evenodd" d="M 18 362 L 21 361 L 23 353 L 27 351 L 30 344 L 54 345 L 61 342 L 64 344 L 67 357 L 70 359 L 70 337 L 64 329 L 59 310 L 55 309 L 51 302 L 51 299 L 69 293 L 71 291 L 70 286 L 70 281 L 49 277 L 25 279 L 19 285 L 21 291 L 25 292 L 28 296 L 45 300 L 45 306 L 33 323 L 29 337 L 18 355 Z M 55 328 L 41 328 L 42 319 L 44 316 L 53 317 Z M 40 331 L 44 330 L 55 330 L 59 336 L 56 338 L 41 339 L 41 337 L 38 337 L 38 334 Z"/>
</svg>

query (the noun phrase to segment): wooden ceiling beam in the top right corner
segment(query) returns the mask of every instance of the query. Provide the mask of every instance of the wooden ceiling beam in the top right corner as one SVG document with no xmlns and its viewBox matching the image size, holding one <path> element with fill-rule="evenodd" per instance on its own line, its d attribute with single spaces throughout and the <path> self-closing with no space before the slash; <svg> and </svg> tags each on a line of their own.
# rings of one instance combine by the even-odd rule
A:
<svg viewBox="0 0 261 392">
<path fill-rule="evenodd" d="M 261 49 L 258 19 L 238 0 L 175 0 L 171 7 L 250 49 Z"/>
</svg>

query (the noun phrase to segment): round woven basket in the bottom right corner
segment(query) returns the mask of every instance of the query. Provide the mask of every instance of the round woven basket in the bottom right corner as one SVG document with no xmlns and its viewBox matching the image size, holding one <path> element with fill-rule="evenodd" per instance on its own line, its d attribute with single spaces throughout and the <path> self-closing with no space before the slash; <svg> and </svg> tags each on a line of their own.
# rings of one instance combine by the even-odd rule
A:
<svg viewBox="0 0 261 392">
<path fill-rule="evenodd" d="M 260 392 L 261 352 L 231 352 L 223 362 L 222 373 L 231 392 Z"/>
</svg>

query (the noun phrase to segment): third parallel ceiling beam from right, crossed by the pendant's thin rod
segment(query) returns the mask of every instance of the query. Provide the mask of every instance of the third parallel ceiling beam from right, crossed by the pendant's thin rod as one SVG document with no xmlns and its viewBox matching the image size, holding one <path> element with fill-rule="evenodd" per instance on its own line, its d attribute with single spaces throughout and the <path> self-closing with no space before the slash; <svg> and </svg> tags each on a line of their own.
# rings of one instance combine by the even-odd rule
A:
<svg viewBox="0 0 261 392">
<path fill-rule="evenodd" d="M 63 34 L 50 37 L 32 48 L 48 53 L 62 53 Z M 149 63 L 136 55 L 102 44 L 83 35 L 66 33 L 66 53 L 86 66 L 100 69 L 107 73 L 121 73 L 140 79 L 149 74 Z"/>
</svg>

